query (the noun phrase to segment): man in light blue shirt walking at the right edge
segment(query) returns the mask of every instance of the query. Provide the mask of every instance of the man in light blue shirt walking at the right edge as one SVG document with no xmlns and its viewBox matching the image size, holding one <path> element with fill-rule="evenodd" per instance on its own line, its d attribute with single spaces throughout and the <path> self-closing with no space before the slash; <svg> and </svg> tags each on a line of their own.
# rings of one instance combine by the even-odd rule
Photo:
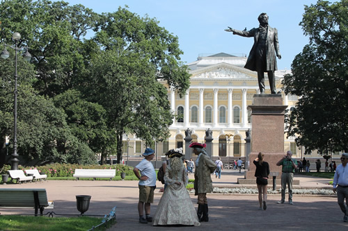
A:
<svg viewBox="0 0 348 231">
<path fill-rule="evenodd" d="M 348 153 L 342 153 L 341 162 L 333 177 L 333 191 L 337 191 L 337 203 L 345 214 L 343 221 L 348 222 L 348 208 L 345 205 L 345 199 L 348 205 Z"/>
</svg>

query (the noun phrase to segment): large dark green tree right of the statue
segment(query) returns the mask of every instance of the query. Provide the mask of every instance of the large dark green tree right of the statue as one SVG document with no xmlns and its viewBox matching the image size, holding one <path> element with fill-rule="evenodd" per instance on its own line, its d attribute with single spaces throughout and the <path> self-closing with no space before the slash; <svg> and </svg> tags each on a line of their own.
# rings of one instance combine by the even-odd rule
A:
<svg viewBox="0 0 348 231">
<path fill-rule="evenodd" d="M 287 133 L 308 151 L 348 151 L 348 1 L 305 6 L 300 25 L 310 43 L 284 78 L 285 93 L 300 96 Z"/>
</svg>

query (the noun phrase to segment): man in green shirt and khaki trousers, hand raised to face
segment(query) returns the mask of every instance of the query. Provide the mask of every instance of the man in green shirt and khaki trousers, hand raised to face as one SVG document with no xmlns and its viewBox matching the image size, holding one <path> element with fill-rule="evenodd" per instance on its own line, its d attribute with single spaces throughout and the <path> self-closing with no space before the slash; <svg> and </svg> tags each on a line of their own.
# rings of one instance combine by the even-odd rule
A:
<svg viewBox="0 0 348 231">
<path fill-rule="evenodd" d="M 292 159 L 292 152 L 287 151 L 286 155 L 278 161 L 277 166 L 282 165 L 282 176 L 281 176 L 281 194 L 282 198 L 278 201 L 278 204 L 285 202 L 285 189 L 289 191 L 289 204 L 294 205 L 292 202 L 292 181 L 294 180 L 294 171 L 296 169 L 294 159 Z"/>
</svg>

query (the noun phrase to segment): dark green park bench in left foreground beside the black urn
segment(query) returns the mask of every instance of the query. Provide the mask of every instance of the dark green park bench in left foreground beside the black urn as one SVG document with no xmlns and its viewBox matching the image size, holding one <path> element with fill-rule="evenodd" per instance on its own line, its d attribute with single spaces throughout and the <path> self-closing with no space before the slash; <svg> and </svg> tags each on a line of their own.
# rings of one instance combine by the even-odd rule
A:
<svg viewBox="0 0 348 231">
<path fill-rule="evenodd" d="M 45 207 L 52 208 L 54 203 L 47 200 L 46 189 L 0 189 L 0 207 L 34 208 L 35 216 L 40 215 Z"/>
</svg>

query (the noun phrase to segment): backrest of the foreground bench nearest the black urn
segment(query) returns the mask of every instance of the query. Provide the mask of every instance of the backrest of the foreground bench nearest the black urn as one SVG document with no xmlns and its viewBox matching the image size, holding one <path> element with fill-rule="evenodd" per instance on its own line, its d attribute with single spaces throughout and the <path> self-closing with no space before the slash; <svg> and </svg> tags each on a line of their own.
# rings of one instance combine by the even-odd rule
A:
<svg viewBox="0 0 348 231">
<path fill-rule="evenodd" d="M 0 207 L 34 207 L 33 191 L 38 191 L 40 205 L 47 207 L 46 189 L 0 189 Z"/>
</svg>

